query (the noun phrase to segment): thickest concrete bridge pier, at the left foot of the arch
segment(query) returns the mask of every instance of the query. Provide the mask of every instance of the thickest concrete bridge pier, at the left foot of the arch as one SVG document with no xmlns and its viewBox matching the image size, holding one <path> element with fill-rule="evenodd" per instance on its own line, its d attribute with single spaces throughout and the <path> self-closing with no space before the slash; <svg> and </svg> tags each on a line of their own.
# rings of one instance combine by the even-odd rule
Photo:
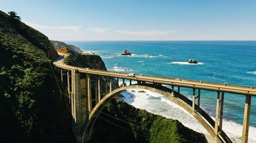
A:
<svg viewBox="0 0 256 143">
<path fill-rule="evenodd" d="M 79 71 L 77 69 L 72 69 L 71 77 L 72 131 L 76 141 L 81 143 L 84 121 L 89 120 L 89 114 L 92 110 L 91 76 L 90 74 L 86 74 L 86 78 L 80 78 Z M 99 78 L 98 82 L 96 78 L 96 86 L 98 85 L 96 90 L 98 90 L 98 93 L 100 93 L 99 83 Z M 95 92 L 95 96 L 98 96 L 98 99 L 100 100 L 100 94 L 97 95 L 97 92 Z M 87 138 L 84 141 L 89 141 L 89 134 L 86 134 L 86 137 Z"/>
</svg>

